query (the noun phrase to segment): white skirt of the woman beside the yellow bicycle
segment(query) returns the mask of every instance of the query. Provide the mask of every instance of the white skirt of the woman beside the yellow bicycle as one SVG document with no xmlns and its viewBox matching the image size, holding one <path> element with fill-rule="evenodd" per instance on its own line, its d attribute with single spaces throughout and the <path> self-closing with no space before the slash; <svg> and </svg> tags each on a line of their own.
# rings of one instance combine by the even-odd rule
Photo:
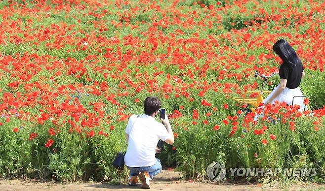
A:
<svg viewBox="0 0 325 191">
<path fill-rule="evenodd" d="M 264 99 L 263 103 L 267 102 L 270 99 L 270 97 L 276 92 L 276 90 L 278 88 L 280 88 L 280 85 L 273 89 L 273 91 L 269 94 L 269 96 L 267 96 Z M 303 111 L 304 107 L 305 107 L 304 97 L 294 97 L 294 96 L 303 96 L 300 88 L 298 87 L 295 89 L 289 89 L 289 88 L 285 87 L 285 89 L 279 94 L 279 96 L 277 96 L 275 99 L 273 99 L 273 101 L 270 103 L 274 104 L 275 101 L 279 101 L 280 103 L 285 102 L 288 105 L 292 105 L 292 99 L 293 99 L 293 105 L 295 105 L 295 104 L 300 105 L 299 111 Z"/>
</svg>

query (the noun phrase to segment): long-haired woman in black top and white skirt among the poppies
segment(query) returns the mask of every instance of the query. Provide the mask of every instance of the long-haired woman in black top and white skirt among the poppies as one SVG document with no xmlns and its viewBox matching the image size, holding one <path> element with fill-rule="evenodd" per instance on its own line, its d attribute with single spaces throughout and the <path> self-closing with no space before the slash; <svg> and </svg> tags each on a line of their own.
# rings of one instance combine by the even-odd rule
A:
<svg viewBox="0 0 325 191">
<path fill-rule="evenodd" d="M 273 51 L 283 61 L 279 69 L 281 79 L 280 84 L 264 99 L 263 103 L 274 104 L 275 101 L 279 101 L 292 105 L 294 96 L 302 96 L 299 85 L 301 78 L 305 76 L 304 67 L 300 58 L 286 40 L 278 40 L 273 45 Z M 303 97 L 296 97 L 293 100 L 293 104 L 300 105 L 299 111 L 304 110 L 305 105 L 303 102 Z"/>
</svg>

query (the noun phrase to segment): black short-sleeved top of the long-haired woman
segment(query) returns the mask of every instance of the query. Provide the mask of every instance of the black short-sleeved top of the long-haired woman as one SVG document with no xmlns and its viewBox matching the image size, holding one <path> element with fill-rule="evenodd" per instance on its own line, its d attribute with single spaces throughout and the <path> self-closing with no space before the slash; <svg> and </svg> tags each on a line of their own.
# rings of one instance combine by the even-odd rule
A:
<svg viewBox="0 0 325 191">
<path fill-rule="evenodd" d="M 286 87 L 289 89 L 298 88 L 301 82 L 302 72 L 304 66 L 297 64 L 295 67 L 291 67 L 288 63 L 283 63 L 279 69 L 279 75 L 281 79 L 286 79 Z"/>
</svg>

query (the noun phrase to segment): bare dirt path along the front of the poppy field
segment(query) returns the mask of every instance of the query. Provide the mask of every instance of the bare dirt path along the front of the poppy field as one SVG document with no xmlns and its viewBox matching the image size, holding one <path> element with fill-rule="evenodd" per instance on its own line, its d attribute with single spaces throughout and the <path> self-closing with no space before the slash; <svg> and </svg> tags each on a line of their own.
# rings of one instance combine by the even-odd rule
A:
<svg viewBox="0 0 325 191">
<path fill-rule="evenodd" d="M 52 183 L 33 180 L 0 180 L 0 191 L 135 191 L 142 190 L 141 183 L 137 187 L 128 185 L 112 185 L 109 183 Z M 281 191 L 280 187 L 270 185 L 247 185 L 222 183 L 212 184 L 181 180 L 181 176 L 171 170 L 163 170 L 151 181 L 151 191 Z M 294 185 L 285 190 L 325 190 L 325 185 Z"/>
</svg>

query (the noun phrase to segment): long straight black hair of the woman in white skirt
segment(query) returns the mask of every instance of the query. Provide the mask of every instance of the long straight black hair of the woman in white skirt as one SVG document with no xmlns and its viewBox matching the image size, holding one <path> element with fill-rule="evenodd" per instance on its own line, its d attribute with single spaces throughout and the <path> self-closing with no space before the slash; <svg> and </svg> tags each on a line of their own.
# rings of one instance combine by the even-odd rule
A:
<svg viewBox="0 0 325 191">
<path fill-rule="evenodd" d="M 291 67 L 295 67 L 297 64 L 301 64 L 300 58 L 296 52 L 290 46 L 290 44 L 280 39 L 273 45 L 273 51 L 282 59 L 284 63 L 289 64 Z"/>
</svg>

